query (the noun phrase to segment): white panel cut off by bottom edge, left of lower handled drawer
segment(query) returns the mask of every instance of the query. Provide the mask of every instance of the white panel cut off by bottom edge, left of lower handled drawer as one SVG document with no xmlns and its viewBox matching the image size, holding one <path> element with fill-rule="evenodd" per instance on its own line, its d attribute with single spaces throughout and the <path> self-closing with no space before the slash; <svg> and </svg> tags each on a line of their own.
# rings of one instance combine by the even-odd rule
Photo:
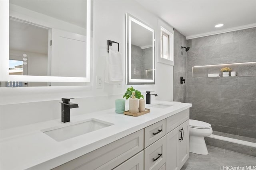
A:
<svg viewBox="0 0 256 170">
<path fill-rule="evenodd" d="M 144 151 L 132 156 L 113 170 L 144 170 Z"/>
</svg>

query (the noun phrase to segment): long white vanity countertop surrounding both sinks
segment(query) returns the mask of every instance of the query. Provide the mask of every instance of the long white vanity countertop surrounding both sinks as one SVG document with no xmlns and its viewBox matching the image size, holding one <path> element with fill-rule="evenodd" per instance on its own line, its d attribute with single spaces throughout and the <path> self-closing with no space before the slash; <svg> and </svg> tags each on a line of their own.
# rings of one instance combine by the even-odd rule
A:
<svg viewBox="0 0 256 170">
<path fill-rule="evenodd" d="M 165 109 L 150 107 L 155 104 L 168 104 Z M 146 105 L 150 113 L 138 117 L 115 113 L 115 109 L 107 109 L 93 113 L 70 115 L 70 122 L 62 123 L 60 119 L 25 125 L 1 131 L 1 170 L 51 169 L 73 160 L 95 149 L 130 135 L 153 123 L 188 109 L 192 104 L 178 102 L 155 101 Z M 126 107 L 128 108 L 128 107 Z M 60 125 L 68 125 L 86 119 L 99 119 L 113 123 L 78 137 L 57 142 L 41 130 Z"/>
</svg>

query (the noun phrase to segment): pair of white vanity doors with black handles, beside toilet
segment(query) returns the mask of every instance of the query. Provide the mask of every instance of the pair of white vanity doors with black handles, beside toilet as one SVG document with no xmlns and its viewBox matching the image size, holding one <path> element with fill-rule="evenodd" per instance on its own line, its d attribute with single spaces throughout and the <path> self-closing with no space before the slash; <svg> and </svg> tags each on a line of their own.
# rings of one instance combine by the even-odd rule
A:
<svg viewBox="0 0 256 170">
<path fill-rule="evenodd" d="M 166 169 L 180 170 L 189 155 L 189 120 L 166 135 Z"/>
</svg>

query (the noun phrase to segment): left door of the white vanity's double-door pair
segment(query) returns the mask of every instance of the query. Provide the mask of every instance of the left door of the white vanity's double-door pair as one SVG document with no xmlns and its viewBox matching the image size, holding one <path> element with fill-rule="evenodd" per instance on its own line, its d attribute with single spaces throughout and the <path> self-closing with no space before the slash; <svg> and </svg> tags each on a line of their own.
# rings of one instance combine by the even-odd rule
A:
<svg viewBox="0 0 256 170">
<path fill-rule="evenodd" d="M 178 142 L 179 127 L 173 129 L 166 135 L 166 169 L 178 170 Z"/>
</svg>

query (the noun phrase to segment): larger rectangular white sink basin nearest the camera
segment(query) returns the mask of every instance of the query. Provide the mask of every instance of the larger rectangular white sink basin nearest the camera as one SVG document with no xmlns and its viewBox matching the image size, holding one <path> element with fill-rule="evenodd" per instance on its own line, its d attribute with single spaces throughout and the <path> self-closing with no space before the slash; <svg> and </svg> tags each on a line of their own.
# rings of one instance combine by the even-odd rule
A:
<svg viewBox="0 0 256 170">
<path fill-rule="evenodd" d="M 84 135 L 104 127 L 114 125 L 106 121 L 101 121 L 98 119 L 87 119 L 84 121 L 79 121 L 72 123 L 70 125 L 62 125 L 58 127 L 52 127 L 42 130 L 43 133 L 54 139 L 55 141 L 64 141 L 73 137 Z"/>
</svg>

